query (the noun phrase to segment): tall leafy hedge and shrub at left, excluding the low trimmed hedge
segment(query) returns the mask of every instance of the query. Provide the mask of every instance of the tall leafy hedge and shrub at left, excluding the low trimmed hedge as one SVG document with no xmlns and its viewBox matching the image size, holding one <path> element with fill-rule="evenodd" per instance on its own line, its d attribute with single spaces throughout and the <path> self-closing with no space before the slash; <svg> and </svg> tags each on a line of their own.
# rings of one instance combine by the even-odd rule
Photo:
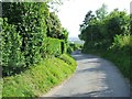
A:
<svg viewBox="0 0 132 99">
<path fill-rule="evenodd" d="M 3 74 L 20 73 L 42 59 L 48 7 L 45 2 L 2 2 Z"/>
</svg>

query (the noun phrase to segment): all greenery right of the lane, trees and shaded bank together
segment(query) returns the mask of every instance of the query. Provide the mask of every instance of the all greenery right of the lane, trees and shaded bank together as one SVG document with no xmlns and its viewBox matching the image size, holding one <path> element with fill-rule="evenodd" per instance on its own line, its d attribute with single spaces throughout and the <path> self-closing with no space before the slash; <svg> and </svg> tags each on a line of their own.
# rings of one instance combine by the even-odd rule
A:
<svg viewBox="0 0 132 99">
<path fill-rule="evenodd" d="M 89 11 L 80 24 L 82 53 L 91 53 L 113 62 L 132 84 L 132 22 L 125 11 L 107 12 L 102 4 L 95 14 Z"/>
</svg>

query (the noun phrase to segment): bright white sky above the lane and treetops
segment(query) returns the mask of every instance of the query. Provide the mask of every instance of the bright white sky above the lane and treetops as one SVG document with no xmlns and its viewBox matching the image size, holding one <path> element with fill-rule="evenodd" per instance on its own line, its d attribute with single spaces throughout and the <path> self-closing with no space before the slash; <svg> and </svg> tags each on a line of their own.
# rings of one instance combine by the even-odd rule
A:
<svg viewBox="0 0 132 99">
<path fill-rule="evenodd" d="M 79 32 L 79 24 L 82 23 L 86 13 L 91 10 L 96 11 L 105 3 L 108 12 L 118 8 L 119 10 L 127 10 L 130 13 L 130 2 L 132 0 L 65 0 L 64 4 L 58 8 L 58 18 L 62 25 L 69 32 L 69 37 L 77 37 Z"/>
</svg>

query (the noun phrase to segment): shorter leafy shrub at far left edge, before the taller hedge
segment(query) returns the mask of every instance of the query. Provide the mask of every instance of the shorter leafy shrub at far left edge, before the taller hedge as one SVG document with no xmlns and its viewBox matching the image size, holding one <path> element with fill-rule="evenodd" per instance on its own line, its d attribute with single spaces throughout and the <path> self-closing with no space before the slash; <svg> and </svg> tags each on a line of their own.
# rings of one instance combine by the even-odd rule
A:
<svg viewBox="0 0 132 99">
<path fill-rule="evenodd" d="M 7 19 L 1 19 L 2 32 L 1 32 L 1 59 L 3 66 L 3 74 L 12 74 L 16 68 L 25 66 L 24 56 L 21 53 L 21 36 L 16 33 L 15 26 L 8 24 Z"/>
</svg>

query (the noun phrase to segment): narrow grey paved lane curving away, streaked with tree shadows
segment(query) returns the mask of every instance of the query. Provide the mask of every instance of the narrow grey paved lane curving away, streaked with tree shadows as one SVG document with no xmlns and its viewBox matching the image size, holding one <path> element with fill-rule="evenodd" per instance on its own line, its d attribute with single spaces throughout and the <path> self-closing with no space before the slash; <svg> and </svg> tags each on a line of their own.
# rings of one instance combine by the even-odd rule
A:
<svg viewBox="0 0 132 99">
<path fill-rule="evenodd" d="M 130 97 L 130 87 L 117 67 L 98 56 L 73 54 L 76 73 L 45 97 Z"/>
</svg>

